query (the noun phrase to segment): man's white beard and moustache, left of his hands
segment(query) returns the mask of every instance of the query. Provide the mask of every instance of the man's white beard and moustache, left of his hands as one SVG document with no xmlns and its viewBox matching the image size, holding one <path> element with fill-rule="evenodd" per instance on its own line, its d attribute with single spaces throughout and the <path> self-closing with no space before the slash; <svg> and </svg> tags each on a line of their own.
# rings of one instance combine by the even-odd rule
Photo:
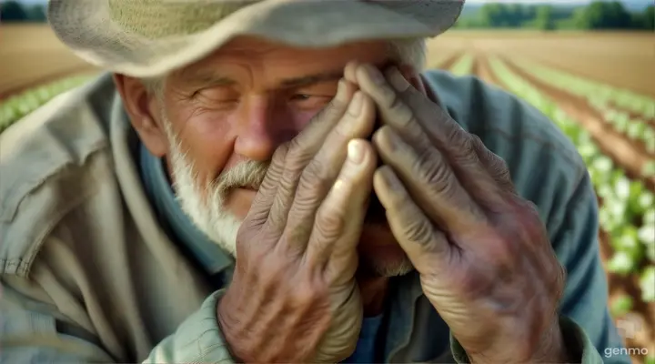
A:
<svg viewBox="0 0 655 364">
<path fill-rule="evenodd" d="M 182 210 L 207 238 L 236 257 L 237 232 L 243 221 L 224 207 L 225 198 L 227 193 L 237 187 L 257 189 L 266 176 L 268 163 L 241 163 L 221 173 L 216 180 L 206 181 L 205 187 L 202 187 L 196 167 L 186 156 L 166 116 L 164 125 L 175 178 L 173 187 Z"/>
</svg>

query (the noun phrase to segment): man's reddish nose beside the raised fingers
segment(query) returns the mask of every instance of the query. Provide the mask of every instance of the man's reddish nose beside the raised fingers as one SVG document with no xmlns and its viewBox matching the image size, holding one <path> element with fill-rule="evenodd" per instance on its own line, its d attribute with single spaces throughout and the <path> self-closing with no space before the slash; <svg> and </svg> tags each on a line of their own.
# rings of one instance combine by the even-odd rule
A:
<svg viewBox="0 0 655 364">
<path fill-rule="evenodd" d="M 281 144 L 300 132 L 282 107 L 253 102 L 241 110 L 234 152 L 247 159 L 267 161 Z"/>
</svg>

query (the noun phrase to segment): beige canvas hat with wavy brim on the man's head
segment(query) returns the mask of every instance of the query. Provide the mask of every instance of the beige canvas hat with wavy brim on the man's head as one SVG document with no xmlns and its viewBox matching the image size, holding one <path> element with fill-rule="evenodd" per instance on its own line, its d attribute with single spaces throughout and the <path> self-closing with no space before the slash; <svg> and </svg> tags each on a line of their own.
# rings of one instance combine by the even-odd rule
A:
<svg viewBox="0 0 655 364">
<path fill-rule="evenodd" d="M 431 37 L 464 0 L 50 0 L 48 21 L 77 56 L 128 76 L 158 76 L 236 35 L 321 47 Z"/>
</svg>

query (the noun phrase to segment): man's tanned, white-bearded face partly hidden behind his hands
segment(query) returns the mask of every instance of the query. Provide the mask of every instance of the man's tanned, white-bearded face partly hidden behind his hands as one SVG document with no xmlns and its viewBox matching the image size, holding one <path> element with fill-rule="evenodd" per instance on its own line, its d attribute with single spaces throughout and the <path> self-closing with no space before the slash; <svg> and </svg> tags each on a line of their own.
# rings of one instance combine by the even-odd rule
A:
<svg viewBox="0 0 655 364">
<path fill-rule="evenodd" d="M 168 76 L 159 110 L 166 159 L 197 227 L 234 254 L 275 149 L 327 106 L 349 61 L 382 66 L 389 56 L 385 42 L 298 49 L 240 37 Z M 380 275 L 411 269 L 384 218 L 368 222 L 358 250 L 362 267 Z"/>
</svg>

